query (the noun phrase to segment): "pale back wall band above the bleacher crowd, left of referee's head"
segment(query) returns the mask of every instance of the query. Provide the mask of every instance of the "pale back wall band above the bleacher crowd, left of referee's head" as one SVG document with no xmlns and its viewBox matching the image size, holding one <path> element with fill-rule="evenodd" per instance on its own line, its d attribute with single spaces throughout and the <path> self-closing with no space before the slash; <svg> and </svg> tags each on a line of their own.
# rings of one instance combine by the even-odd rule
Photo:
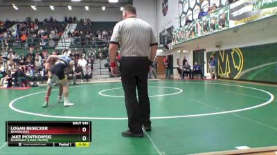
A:
<svg viewBox="0 0 277 155">
<path fill-rule="evenodd" d="M 39 7 L 37 10 L 33 10 L 30 7 L 19 7 L 19 10 L 15 10 L 10 7 L 0 7 L 0 21 L 23 21 L 26 17 L 31 17 L 43 21 L 46 17 L 53 17 L 57 21 L 64 21 L 64 17 L 76 16 L 78 19 L 90 18 L 92 21 L 121 21 L 122 12 L 119 8 L 106 8 L 102 11 L 102 8 L 84 8 L 73 7 L 72 10 L 68 10 L 66 7 L 55 7 L 55 10 L 51 10 L 49 7 Z"/>
</svg>

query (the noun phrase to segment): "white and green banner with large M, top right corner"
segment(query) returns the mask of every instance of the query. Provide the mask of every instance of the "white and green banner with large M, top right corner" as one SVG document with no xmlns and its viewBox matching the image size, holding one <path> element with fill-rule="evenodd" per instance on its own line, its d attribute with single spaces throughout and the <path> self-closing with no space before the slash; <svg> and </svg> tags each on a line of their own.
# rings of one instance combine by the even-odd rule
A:
<svg viewBox="0 0 277 155">
<path fill-rule="evenodd" d="M 277 0 L 240 0 L 230 5 L 230 28 L 277 14 Z"/>
</svg>

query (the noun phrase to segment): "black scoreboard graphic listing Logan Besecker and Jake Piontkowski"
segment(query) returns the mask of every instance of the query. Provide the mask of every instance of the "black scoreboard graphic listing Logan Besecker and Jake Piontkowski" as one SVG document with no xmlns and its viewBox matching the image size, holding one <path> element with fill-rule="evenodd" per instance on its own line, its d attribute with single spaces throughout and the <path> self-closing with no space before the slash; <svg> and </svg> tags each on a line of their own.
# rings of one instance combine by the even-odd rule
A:
<svg viewBox="0 0 277 155">
<path fill-rule="evenodd" d="M 89 147 L 91 121 L 6 121 L 11 147 Z"/>
</svg>

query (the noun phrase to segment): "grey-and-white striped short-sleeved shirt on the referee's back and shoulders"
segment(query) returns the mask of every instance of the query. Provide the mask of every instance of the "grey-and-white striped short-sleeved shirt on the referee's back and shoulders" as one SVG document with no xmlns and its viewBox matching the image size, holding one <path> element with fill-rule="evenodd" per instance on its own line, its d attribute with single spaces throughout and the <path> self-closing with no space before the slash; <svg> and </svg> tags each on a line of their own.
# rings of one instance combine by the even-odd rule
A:
<svg viewBox="0 0 277 155">
<path fill-rule="evenodd" d="M 114 27 L 110 43 L 120 44 L 121 56 L 150 56 L 150 46 L 158 45 L 149 23 L 131 17 Z"/>
</svg>

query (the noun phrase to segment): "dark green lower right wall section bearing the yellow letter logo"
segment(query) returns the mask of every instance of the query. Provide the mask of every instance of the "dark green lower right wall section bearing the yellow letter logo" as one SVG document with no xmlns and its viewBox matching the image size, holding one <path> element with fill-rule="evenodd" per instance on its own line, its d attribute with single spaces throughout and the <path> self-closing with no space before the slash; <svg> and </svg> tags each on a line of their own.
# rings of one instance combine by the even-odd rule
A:
<svg viewBox="0 0 277 155">
<path fill-rule="evenodd" d="M 277 83 L 277 43 L 206 53 L 218 59 L 218 74 L 224 79 Z M 208 68 L 206 68 L 208 70 Z"/>
</svg>

